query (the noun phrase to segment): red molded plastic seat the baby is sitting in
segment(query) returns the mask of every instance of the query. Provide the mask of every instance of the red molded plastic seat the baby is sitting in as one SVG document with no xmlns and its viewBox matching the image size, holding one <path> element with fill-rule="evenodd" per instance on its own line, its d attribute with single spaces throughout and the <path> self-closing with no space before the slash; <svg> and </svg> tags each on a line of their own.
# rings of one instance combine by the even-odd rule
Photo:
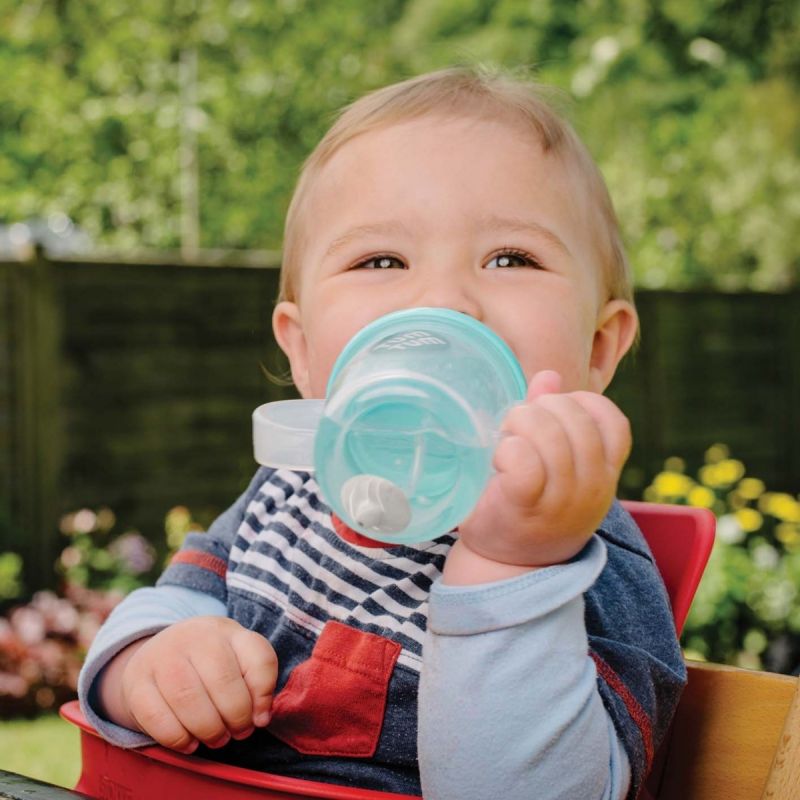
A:
<svg viewBox="0 0 800 800">
<path fill-rule="evenodd" d="M 714 543 L 715 519 L 705 509 L 625 502 L 644 533 L 667 587 L 678 631 Z M 333 800 L 413 800 L 377 792 L 220 764 L 183 756 L 162 747 L 123 750 L 103 741 L 85 721 L 77 702 L 62 715 L 81 729 L 83 772 L 75 787 L 90 797 L 125 800 L 243 800 L 244 798 L 330 798 Z"/>
</svg>

